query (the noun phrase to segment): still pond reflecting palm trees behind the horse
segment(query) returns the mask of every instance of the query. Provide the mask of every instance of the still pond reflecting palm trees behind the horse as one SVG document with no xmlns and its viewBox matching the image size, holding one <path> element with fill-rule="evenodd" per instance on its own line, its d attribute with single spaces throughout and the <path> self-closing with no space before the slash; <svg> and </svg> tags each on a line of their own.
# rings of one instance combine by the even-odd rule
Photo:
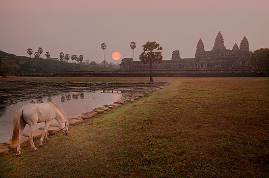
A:
<svg viewBox="0 0 269 178">
<path fill-rule="evenodd" d="M 94 108 L 111 104 L 119 100 L 121 91 L 113 90 L 89 90 L 84 92 L 67 92 L 53 96 L 40 96 L 34 100 L 25 100 L 9 105 L 0 111 L 0 143 L 7 142 L 12 137 L 13 132 L 13 116 L 16 110 L 19 110 L 26 103 L 42 103 L 47 100 L 57 103 L 65 112 L 66 118 L 89 112 Z M 53 120 L 51 123 L 57 122 Z M 44 126 L 44 123 L 38 123 L 36 129 Z M 23 133 L 29 131 L 29 126 L 23 130 Z"/>
</svg>

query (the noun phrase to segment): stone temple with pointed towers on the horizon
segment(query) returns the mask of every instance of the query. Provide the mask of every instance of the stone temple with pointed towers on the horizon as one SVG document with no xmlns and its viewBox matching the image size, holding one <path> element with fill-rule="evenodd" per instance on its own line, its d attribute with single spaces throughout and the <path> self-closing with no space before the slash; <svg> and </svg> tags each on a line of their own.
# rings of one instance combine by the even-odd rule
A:
<svg viewBox="0 0 269 178">
<path fill-rule="evenodd" d="M 249 68 L 251 51 L 249 51 L 249 41 L 246 36 L 241 40 L 240 47 L 235 43 L 232 50 L 224 45 L 224 38 L 221 32 L 218 33 L 212 50 L 205 51 L 204 43 L 200 38 L 194 58 L 180 58 L 179 50 L 172 52 L 171 60 L 163 60 L 162 63 L 153 63 L 153 70 L 183 70 L 186 65 L 193 64 L 192 70 L 205 69 L 247 69 Z M 190 63 L 192 61 L 192 63 Z M 119 70 L 149 70 L 149 64 L 141 61 L 133 61 L 132 58 L 123 58 L 119 65 Z"/>
</svg>

